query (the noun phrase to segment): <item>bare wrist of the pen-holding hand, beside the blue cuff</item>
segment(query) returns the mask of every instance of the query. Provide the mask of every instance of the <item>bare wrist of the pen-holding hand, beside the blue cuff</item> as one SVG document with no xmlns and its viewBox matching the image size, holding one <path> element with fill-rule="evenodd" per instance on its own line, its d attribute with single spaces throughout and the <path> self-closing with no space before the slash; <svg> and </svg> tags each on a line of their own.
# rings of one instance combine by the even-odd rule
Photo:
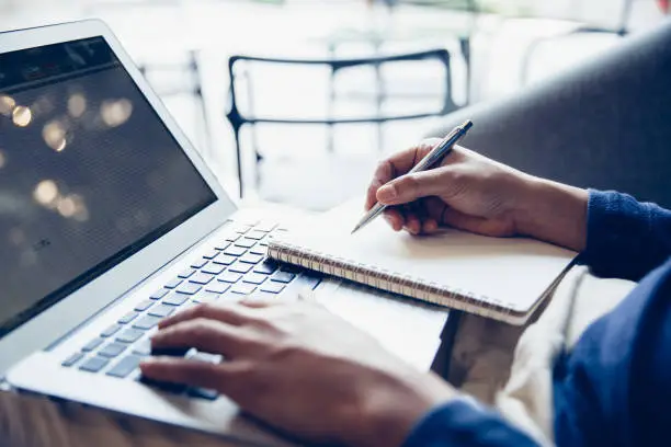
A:
<svg viewBox="0 0 671 447">
<path fill-rule="evenodd" d="M 524 186 L 514 211 L 518 233 L 575 251 L 583 250 L 588 192 L 532 175 L 525 175 L 522 182 Z"/>
</svg>

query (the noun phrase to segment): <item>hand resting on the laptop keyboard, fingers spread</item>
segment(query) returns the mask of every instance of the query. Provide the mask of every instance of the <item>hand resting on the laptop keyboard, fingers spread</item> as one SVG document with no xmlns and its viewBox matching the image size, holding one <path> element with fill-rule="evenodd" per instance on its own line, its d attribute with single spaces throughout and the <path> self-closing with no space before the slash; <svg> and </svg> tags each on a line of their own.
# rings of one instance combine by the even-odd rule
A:
<svg viewBox="0 0 671 447">
<path fill-rule="evenodd" d="M 456 394 L 307 301 L 201 305 L 161 322 L 152 346 L 195 347 L 226 360 L 150 357 L 145 376 L 215 389 L 317 443 L 399 446 L 424 413 Z"/>
</svg>

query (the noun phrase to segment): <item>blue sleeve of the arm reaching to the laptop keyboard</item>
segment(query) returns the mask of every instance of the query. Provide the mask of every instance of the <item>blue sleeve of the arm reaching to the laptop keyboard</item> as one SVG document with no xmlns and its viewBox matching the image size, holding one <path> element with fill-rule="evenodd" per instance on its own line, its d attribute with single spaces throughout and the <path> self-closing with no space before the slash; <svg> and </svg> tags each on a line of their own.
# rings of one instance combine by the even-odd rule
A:
<svg viewBox="0 0 671 447">
<path fill-rule="evenodd" d="M 465 399 L 456 399 L 429 412 L 403 447 L 537 447 L 528 436 L 498 413 Z"/>
</svg>

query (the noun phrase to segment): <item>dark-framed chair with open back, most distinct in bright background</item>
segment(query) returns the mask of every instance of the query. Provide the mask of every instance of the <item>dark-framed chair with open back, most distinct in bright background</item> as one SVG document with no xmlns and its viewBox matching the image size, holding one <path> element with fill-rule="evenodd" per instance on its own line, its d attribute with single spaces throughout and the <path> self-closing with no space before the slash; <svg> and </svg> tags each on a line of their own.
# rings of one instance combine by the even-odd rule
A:
<svg viewBox="0 0 671 447">
<path fill-rule="evenodd" d="M 293 116 L 293 117 L 274 117 L 274 116 L 262 116 L 254 113 L 253 107 L 248 107 L 247 112 L 242 112 L 240 110 L 240 99 L 239 99 L 239 89 L 238 89 L 238 78 L 241 76 L 241 71 L 238 70 L 238 66 L 246 62 L 253 64 L 262 64 L 266 66 L 266 70 L 271 69 L 273 66 L 295 66 L 295 67 L 315 67 L 322 66 L 327 67 L 331 70 L 331 72 L 341 72 L 346 69 L 353 68 L 379 68 L 382 66 L 388 66 L 399 62 L 408 62 L 408 61 L 424 61 L 424 60 L 434 60 L 440 62 L 444 68 L 444 94 L 442 98 L 442 104 L 439 110 L 432 110 L 420 113 L 409 113 L 409 114 L 383 114 L 380 113 L 382 107 L 379 106 L 382 101 L 386 101 L 389 96 L 378 96 L 376 101 L 378 101 L 377 113 L 372 116 L 363 116 L 363 117 L 334 117 L 331 113 L 329 113 L 326 117 L 302 117 L 302 116 Z M 243 126 L 251 126 L 255 128 L 259 124 L 275 124 L 275 125 L 323 125 L 332 126 L 343 125 L 343 124 L 372 124 L 372 125 L 382 125 L 384 123 L 389 122 L 399 122 L 399 121 L 410 121 L 410 119 L 420 119 L 427 117 L 442 116 L 450 112 L 457 110 L 457 105 L 452 100 L 452 81 L 451 81 L 451 65 L 450 65 L 450 53 L 446 49 L 432 49 L 412 54 L 401 54 L 401 55 L 391 55 L 391 56 L 376 56 L 369 58 L 327 58 L 327 59 L 283 59 L 283 58 L 264 58 L 264 57 L 252 57 L 252 56 L 232 56 L 228 61 L 228 71 L 230 76 L 230 88 L 229 88 L 229 110 L 226 113 L 226 117 L 228 118 L 235 136 L 236 151 L 237 151 L 237 161 L 238 161 L 238 175 L 239 175 L 239 186 L 240 186 L 240 196 L 244 193 L 244 168 L 243 168 L 243 153 L 240 144 L 240 131 Z M 383 82 L 383 78 L 378 77 L 377 82 Z M 253 88 L 251 83 L 247 83 L 248 90 L 247 95 L 249 100 L 252 100 L 253 103 Z M 296 85 L 297 89 L 300 85 Z M 383 88 L 376 89 L 377 91 L 383 90 Z M 250 103 L 250 104 L 251 104 Z M 262 160 L 262 153 L 259 147 L 254 142 L 254 160 L 257 162 L 257 167 L 259 162 Z M 257 184 L 259 183 L 259 170 L 255 170 L 257 175 Z"/>
</svg>

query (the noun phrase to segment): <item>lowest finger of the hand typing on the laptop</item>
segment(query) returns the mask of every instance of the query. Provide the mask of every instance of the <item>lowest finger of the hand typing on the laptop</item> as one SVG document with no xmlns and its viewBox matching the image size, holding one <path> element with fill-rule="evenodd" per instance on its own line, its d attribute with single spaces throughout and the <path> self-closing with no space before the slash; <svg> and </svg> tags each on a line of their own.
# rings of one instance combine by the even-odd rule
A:
<svg viewBox="0 0 671 447">
<path fill-rule="evenodd" d="M 178 357 L 147 357 L 140 363 L 144 377 L 202 387 L 226 393 L 235 379 L 232 363 L 212 364 Z"/>
</svg>

